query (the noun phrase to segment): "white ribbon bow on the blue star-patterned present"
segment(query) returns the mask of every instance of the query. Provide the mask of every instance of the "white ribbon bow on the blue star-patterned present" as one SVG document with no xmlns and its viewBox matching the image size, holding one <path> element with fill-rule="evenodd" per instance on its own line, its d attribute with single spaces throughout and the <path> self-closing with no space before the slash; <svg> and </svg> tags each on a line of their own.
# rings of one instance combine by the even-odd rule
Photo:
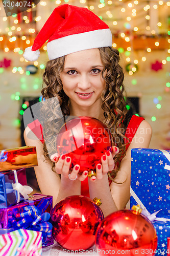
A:
<svg viewBox="0 0 170 256">
<path fill-rule="evenodd" d="M 142 214 L 144 215 L 144 216 L 146 216 L 151 222 L 153 222 L 153 221 L 170 221 L 170 219 L 167 219 L 167 218 L 158 218 L 158 217 L 156 217 L 156 215 L 158 214 L 158 212 L 160 211 L 160 210 L 162 210 L 162 209 L 160 209 L 160 210 L 158 210 L 158 211 L 156 211 L 156 212 L 153 212 L 153 214 L 150 214 L 150 212 L 147 210 L 147 208 L 142 204 L 142 202 L 140 201 L 140 199 L 137 197 L 137 195 L 135 194 L 135 192 L 133 191 L 133 189 L 132 188 L 130 188 L 130 193 L 131 193 L 131 196 L 135 199 L 135 201 L 137 202 L 137 204 L 139 204 L 140 205 L 140 207 L 142 208 Z"/>
</svg>

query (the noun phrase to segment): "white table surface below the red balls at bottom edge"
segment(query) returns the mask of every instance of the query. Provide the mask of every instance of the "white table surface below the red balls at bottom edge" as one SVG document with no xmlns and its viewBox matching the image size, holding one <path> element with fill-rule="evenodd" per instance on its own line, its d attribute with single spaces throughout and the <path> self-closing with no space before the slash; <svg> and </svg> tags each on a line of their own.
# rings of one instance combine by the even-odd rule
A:
<svg viewBox="0 0 170 256">
<path fill-rule="evenodd" d="M 53 245 L 47 246 L 47 247 L 43 247 L 42 248 L 42 256 L 67 256 L 69 254 L 69 256 L 74 256 L 74 255 L 78 255 L 78 254 L 91 254 L 98 256 L 99 254 L 96 252 L 95 249 L 95 245 L 92 246 L 90 249 L 83 251 L 81 250 L 80 252 L 74 252 L 74 251 L 69 251 L 66 250 L 62 247 L 60 247 L 57 243 L 54 243 Z"/>
</svg>

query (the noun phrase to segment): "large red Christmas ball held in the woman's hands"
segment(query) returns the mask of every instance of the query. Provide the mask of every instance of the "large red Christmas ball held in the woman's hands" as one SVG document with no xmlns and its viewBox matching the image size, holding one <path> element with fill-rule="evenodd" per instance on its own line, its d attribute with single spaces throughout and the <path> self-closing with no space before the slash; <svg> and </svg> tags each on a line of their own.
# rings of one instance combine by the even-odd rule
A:
<svg viewBox="0 0 170 256">
<path fill-rule="evenodd" d="M 101 163 L 101 157 L 106 151 L 111 152 L 111 133 L 100 120 L 92 117 L 75 117 L 65 122 L 56 138 L 56 148 L 59 155 L 71 158 L 72 169 L 79 164 L 79 173 L 84 170 L 95 171 Z"/>
</svg>

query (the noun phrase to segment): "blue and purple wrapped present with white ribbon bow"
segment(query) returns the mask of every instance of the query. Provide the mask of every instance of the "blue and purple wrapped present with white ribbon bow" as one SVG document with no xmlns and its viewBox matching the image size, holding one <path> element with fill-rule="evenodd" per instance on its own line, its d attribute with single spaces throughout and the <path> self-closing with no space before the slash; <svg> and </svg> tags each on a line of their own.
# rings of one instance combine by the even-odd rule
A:
<svg viewBox="0 0 170 256">
<path fill-rule="evenodd" d="M 0 173 L 0 208 L 6 208 L 28 199 L 33 191 L 27 186 L 26 169 Z"/>
</svg>

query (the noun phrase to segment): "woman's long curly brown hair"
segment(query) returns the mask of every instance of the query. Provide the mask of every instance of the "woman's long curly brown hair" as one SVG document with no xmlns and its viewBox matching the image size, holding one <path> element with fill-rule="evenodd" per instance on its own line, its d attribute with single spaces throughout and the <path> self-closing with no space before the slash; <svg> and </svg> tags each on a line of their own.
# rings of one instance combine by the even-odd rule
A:
<svg viewBox="0 0 170 256">
<path fill-rule="evenodd" d="M 118 146 L 119 153 L 116 154 L 115 168 L 108 173 L 109 178 L 112 180 L 115 178 L 117 171 L 119 170 L 120 161 L 126 155 L 125 147 L 125 125 L 123 120 L 127 114 L 127 108 L 124 98 L 124 72 L 119 65 L 119 52 L 112 47 L 99 48 L 101 60 L 104 65 L 102 71 L 102 77 L 106 81 L 106 87 L 101 95 L 102 98 L 102 110 L 104 111 L 103 123 L 108 127 L 112 134 L 112 142 Z M 49 99 L 57 97 L 58 104 L 60 105 L 62 115 L 69 116 L 69 97 L 64 93 L 62 82 L 60 79 L 60 73 L 64 68 L 65 57 L 60 57 L 54 60 L 50 60 L 46 63 L 45 72 L 43 74 L 43 82 L 45 87 L 42 89 L 42 98 Z M 107 71 L 104 76 L 104 72 Z M 44 156 L 49 158 L 49 155 L 56 153 L 55 141 L 56 134 L 58 133 L 56 123 L 61 127 L 61 116 L 59 117 L 57 109 L 57 101 L 52 99 L 49 103 L 43 102 L 43 114 L 46 120 L 44 124 L 43 136 L 44 136 Z M 52 163 L 52 169 L 54 163 Z"/>
</svg>

